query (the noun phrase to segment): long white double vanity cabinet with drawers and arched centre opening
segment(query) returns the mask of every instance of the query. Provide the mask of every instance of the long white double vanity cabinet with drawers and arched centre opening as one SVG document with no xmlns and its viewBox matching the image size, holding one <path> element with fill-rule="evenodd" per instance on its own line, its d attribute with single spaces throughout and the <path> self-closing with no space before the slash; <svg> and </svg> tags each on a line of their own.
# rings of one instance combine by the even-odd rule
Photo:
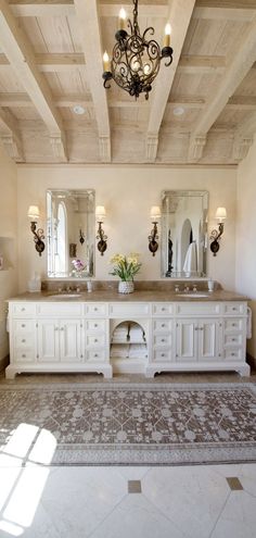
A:
<svg viewBox="0 0 256 538">
<path fill-rule="evenodd" d="M 159 372 L 209 371 L 249 375 L 246 315 L 245 300 L 11 300 L 5 375 L 97 372 L 112 377 L 113 371 L 146 377 Z M 141 341 L 133 342 L 129 335 L 128 356 L 118 355 L 118 343 L 111 349 L 114 331 L 126 325 L 133 327 Z"/>
</svg>

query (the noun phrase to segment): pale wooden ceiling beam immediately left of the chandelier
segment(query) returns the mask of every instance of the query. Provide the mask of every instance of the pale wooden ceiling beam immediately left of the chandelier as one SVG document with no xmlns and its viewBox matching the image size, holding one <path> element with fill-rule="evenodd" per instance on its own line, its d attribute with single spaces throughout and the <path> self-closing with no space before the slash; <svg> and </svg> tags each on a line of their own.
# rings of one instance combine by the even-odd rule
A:
<svg viewBox="0 0 256 538">
<path fill-rule="evenodd" d="M 111 161 L 111 127 L 106 90 L 102 84 L 102 45 L 97 0 L 75 0 L 80 27 L 81 47 L 87 59 L 88 83 L 94 104 L 99 132 L 99 151 L 102 162 Z"/>
</svg>

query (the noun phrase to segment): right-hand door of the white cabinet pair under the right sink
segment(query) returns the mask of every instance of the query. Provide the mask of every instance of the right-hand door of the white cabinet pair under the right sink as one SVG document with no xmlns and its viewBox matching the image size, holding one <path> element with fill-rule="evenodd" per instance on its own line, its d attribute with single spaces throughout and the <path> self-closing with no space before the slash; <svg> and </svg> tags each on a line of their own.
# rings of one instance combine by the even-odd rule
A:
<svg viewBox="0 0 256 538">
<path fill-rule="evenodd" d="M 218 320 L 200 320 L 197 323 L 199 361 L 220 359 L 221 324 Z"/>
</svg>

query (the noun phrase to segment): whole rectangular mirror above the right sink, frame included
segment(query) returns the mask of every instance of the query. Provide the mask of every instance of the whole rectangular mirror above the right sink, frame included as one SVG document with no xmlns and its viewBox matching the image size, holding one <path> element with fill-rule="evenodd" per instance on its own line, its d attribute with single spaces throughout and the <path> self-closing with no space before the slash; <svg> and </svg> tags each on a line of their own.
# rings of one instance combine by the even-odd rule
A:
<svg viewBox="0 0 256 538">
<path fill-rule="evenodd" d="M 208 192 L 162 193 L 162 276 L 206 276 Z"/>
</svg>

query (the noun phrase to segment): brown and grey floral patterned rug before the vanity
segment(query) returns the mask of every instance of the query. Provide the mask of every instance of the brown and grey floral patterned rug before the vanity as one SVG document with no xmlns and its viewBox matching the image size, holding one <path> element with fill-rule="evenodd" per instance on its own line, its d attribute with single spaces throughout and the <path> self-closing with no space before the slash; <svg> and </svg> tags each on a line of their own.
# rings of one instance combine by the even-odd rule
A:
<svg viewBox="0 0 256 538">
<path fill-rule="evenodd" d="M 253 384 L 0 387 L 0 464 L 256 461 Z"/>
</svg>

